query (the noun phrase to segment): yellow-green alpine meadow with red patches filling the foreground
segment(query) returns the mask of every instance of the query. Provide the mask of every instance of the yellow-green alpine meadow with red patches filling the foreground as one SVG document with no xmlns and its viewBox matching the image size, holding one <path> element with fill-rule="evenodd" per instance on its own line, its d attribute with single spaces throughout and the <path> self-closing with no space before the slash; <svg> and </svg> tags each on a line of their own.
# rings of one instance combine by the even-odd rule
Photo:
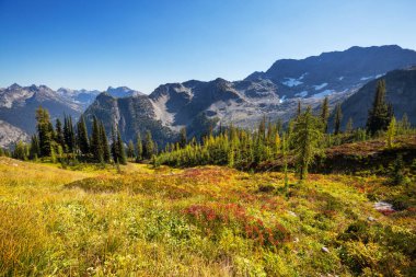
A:
<svg viewBox="0 0 416 277">
<path fill-rule="evenodd" d="M 0 158 L 0 276 L 415 274 L 414 185 L 289 177 L 287 197 L 280 173 Z"/>
</svg>

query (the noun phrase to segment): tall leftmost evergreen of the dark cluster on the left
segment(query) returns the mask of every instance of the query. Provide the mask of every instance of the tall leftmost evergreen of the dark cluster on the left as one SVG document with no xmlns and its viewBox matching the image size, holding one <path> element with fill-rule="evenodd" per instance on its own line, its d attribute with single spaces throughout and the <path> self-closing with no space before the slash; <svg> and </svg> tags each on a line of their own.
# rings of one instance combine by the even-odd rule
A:
<svg viewBox="0 0 416 277">
<path fill-rule="evenodd" d="M 51 128 L 48 111 L 38 107 L 36 109 L 37 134 L 39 138 L 39 149 L 42 157 L 50 155 L 54 129 Z"/>
</svg>

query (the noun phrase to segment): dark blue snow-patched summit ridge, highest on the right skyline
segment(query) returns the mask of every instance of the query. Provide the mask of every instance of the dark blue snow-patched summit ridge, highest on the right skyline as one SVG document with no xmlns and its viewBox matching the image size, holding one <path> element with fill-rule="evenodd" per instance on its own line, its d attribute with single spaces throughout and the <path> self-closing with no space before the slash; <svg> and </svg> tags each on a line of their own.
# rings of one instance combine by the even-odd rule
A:
<svg viewBox="0 0 416 277">
<path fill-rule="evenodd" d="M 416 51 L 397 45 L 351 47 L 301 60 L 277 60 L 266 72 L 246 80 L 274 82 L 286 97 L 322 97 L 360 88 L 388 71 L 416 65 Z"/>
</svg>

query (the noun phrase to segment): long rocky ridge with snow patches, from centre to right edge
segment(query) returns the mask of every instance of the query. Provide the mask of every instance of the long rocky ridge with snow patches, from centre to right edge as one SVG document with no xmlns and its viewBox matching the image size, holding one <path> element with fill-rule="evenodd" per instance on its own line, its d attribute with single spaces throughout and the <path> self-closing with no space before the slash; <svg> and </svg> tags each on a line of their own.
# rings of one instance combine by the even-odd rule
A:
<svg viewBox="0 0 416 277">
<path fill-rule="evenodd" d="M 201 134 L 218 122 L 252 128 L 264 115 L 287 120 L 296 113 L 298 101 L 317 108 L 327 95 L 333 106 L 366 83 L 412 65 L 416 65 L 416 51 L 395 45 L 351 47 L 301 60 L 277 60 L 266 72 L 254 72 L 241 81 L 190 80 L 162 84 L 148 96 L 116 100 L 106 95 L 116 103 L 112 108 L 97 99 L 86 114 L 90 119 L 96 114 L 104 123 L 118 124 L 125 139 L 153 127 L 177 132 L 186 126 L 188 135 Z"/>
</svg>

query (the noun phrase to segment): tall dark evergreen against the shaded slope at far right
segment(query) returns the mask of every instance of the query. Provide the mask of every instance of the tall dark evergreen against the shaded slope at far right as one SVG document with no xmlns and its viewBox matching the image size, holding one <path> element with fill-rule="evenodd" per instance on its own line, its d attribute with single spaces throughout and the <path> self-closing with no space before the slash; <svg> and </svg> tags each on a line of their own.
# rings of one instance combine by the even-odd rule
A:
<svg viewBox="0 0 416 277">
<path fill-rule="evenodd" d="M 386 130 L 393 116 L 392 105 L 385 102 L 385 81 L 379 80 L 372 107 L 367 119 L 367 131 L 374 135 L 380 130 Z"/>
</svg>

